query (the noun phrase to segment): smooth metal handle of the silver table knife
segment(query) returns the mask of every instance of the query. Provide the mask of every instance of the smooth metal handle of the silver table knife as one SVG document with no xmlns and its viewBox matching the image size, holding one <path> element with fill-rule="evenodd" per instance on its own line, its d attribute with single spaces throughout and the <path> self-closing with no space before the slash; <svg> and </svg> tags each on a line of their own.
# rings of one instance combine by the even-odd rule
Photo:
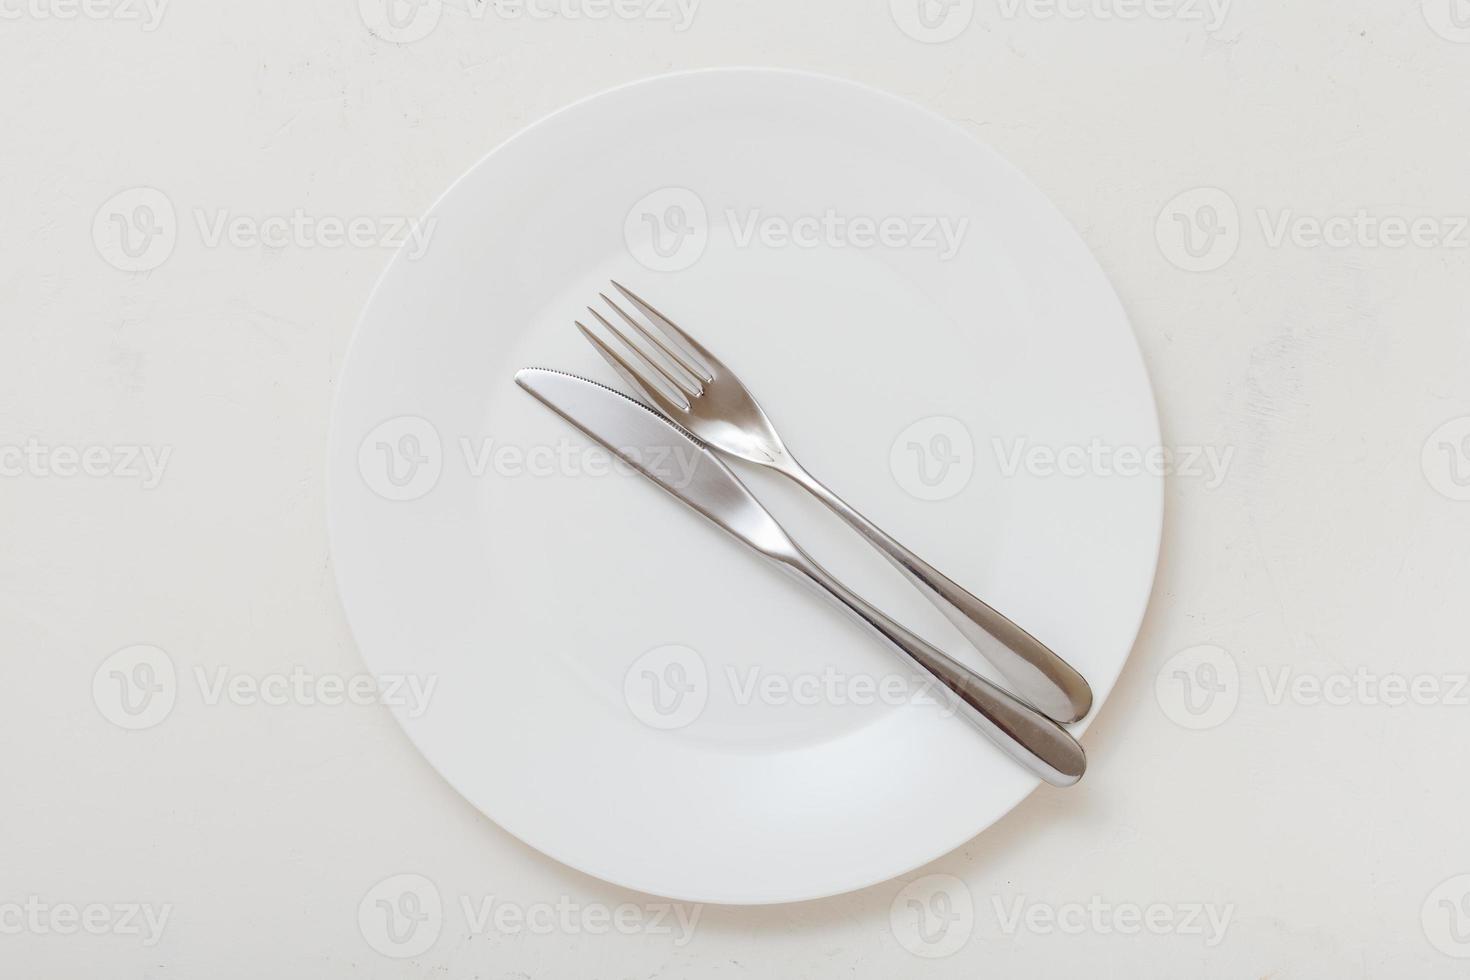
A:
<svg viewBox="0 0 1470 980">
<path fill-rule="evenodd" d="M 897 623 L 800 548 L 778 560 L 944 685 L 958 713 L 1007 755 L 1053 786 L 1072 786 L 1082 779 L 1088 767 L 1086 752 L 1064 727 Z"/>
</svg>

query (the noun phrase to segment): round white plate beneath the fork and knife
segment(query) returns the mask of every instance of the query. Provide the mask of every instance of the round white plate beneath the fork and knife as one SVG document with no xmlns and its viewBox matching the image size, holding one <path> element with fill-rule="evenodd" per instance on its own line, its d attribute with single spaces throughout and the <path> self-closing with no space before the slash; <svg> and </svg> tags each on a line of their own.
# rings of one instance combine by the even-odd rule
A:
<svg viewBox="0 0 1470 980">
<path fill-rule="evenodd" d="M 776 223 L 747 238 L 753 215 Z M 431 217 L 343 370 L 329 517 L 363 658 L 437 677 L 428 711 L 395 713 L 460 793 L 609 882 L 756 904 L 908 871 L 1036 786 L 904 704 L 910 674 L 814 594 L 639 478 L 589 473 L 606 455 L 512 383 L 528 364 L 614 381 L 572 319 L 625 281 L 739 372 L 814 473 L 1101 705 L 1152 582 L 1161 479 L 1048 475 L 1045 453 L 1133 469 L 1158 430 L 1117 298 L 1025 178 L 895 97 L 710 71 L 541 120 Z M 941 217 L 967 222 L 954 254 Z M 829 567 L 976 664 L 814 501 L 741 472 Z"/>
</svg>

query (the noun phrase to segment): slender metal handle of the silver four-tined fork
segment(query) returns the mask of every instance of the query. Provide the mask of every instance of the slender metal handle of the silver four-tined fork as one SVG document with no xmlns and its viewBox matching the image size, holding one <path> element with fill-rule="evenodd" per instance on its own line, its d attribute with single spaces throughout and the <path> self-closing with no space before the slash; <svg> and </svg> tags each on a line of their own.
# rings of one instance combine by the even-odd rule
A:
<svg viewBox="0 0 1470 980">
<path fill-rule="evenodd" d="M 789 455 L 773 469 L 811 492 L 883 552 L 1001 671 L 1023 699 L 1063 723 L 1078 721 L 1092 710 L 1092 689 L 1088 682 L 1050 646 L 898 544 Z"/>
</svg>

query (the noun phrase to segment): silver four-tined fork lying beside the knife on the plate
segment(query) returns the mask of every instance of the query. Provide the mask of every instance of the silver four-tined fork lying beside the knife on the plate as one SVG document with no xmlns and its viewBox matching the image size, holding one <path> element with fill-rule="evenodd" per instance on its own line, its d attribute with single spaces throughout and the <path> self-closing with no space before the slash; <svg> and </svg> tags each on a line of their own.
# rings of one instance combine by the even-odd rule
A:
<svg viewBox="0 0 1470 980">
<path fill-rule="evenodd" d="M 1086 716 L 1092 708 L 1092 689 L 1072 664 L 811 476 L 791 455 L 756 398 L 720 359 L 622 284 L 613 281 L 613 288 L 648 323 L 600 292 L 598 298 L 626 326 L 614 326 L 594 307 L 588 307 L 588 313 L 623 350 L 614 348 L 581 320 L 576 320 L 576 328 L 623 381 L 710 448 L 773 469 L 832 508 L 960 629 L 1022 699 L 1057 721 L 1070 723 Z M 635 336 L 642 338 L 642 344 Z"/>
</svg>

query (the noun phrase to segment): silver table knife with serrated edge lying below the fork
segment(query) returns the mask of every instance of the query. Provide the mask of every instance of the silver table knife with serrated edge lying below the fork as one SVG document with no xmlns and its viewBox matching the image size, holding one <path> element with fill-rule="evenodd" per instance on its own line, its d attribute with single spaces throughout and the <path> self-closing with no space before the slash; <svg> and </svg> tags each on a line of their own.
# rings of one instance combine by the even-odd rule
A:
<svg viewBox="0 0 1470 980">
<path fill-rule="evenodd" d="M 1007 755 L 1054 786 L 1086 771 L 1086 754 L 1060 724 L 1014 698 L 848 589 L 782 529 L 713 453 L 648 406 L 595 381 L 542 367 L 516 383 L 664 491 L 797 579 L 816 586 L 948 692 L 953 707 Z"/>
</svg>

